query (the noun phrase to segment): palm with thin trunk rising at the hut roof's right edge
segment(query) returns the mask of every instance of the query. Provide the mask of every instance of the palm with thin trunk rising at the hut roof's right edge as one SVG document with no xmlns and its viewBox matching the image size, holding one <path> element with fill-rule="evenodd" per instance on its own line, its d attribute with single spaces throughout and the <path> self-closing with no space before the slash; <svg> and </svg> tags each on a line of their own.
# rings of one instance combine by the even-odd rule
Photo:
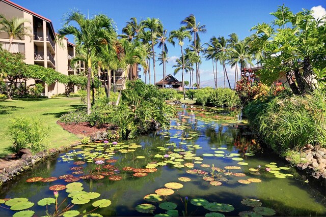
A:
<svg viewBox="0 0 326 217">
<path fill-rule="evenodd" d="M 192 35 L 189 31 L 186 30 L 185 26 L 181 26 L 178 30 L 172 30 L 170 33 L 169 41 L 174 44 L 173 39 L 177 39 L 178 45 L 180 45 L 181 49 L 181 59 L 182 59 L 182 87 L 183 87 L 183 99 L 185 100 L 185 89 L 184 89 L 184 55 L 182 46 L 184 44 L 183 40 L 188 38 L 189 41 L 192 40 Z"/>
</svg>

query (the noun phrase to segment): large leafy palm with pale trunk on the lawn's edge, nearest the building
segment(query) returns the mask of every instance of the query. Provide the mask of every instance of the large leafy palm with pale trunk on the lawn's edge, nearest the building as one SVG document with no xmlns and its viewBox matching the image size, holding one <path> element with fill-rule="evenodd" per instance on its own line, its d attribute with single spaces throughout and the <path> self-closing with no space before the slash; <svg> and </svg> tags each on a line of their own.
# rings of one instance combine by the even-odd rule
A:
<svg viewBox="0 0 326 217">
<path fill-rule="evenodd" d="M 73 11 L 66 17 L 66 23 L 59 29 L 58 39 L 62 40 L 66 35 L 73 35 L 77 45 L 83 45 L 87 57 L 87 114 L 91 113 L 91 77 L 92 73 L 92 58 L 96 49 L 100 46 L 107 45 L 110 49 L 114 48 L 117 40 L 117 33 L 113 27 L 113 20 L 106 15 L 95 15 L 92 19 L 86 19 L 85 15 Z M 71 25 L 71 22 L 76 22 L 77 26 Z"/>
</svg>

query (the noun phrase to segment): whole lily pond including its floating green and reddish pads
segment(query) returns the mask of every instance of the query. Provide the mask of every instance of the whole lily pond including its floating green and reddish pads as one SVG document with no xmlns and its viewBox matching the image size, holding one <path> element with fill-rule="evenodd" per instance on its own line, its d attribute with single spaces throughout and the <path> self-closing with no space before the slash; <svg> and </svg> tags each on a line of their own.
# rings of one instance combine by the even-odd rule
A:
<svg viewBox="0 0 326 217">
<path fill-rule="evenodd" d="M 326 215 L 323 187 L 262 148 L 238 111 L 177 111 L 170 130 L 78 145 L 17 176 L 0 216 Z"/>
</svg>

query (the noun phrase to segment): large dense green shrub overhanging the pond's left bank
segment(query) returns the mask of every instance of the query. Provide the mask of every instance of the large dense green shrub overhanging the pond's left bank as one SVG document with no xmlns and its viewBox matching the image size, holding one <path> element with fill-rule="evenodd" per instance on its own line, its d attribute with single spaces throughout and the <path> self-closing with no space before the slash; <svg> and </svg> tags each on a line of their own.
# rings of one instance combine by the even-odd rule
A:
<svg viewBox="0 0 326 217">
<path fill-rule="evenodd" d="M 122 138 L 133 138 L 158 127 L 169 127 L 175 110 L 165 103 L 154 85 L 137 80 L 128 82 L 127 87 L 122 91 L 121 104 L 111 113 L 111 121 L 119 127 Z"/>
</svg>

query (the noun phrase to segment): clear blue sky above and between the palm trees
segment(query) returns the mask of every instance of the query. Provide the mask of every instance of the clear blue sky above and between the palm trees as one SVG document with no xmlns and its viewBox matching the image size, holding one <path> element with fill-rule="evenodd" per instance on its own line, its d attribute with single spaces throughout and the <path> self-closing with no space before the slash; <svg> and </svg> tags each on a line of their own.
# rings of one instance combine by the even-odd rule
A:
<svg viewBox="0 0 326 217">
<path fill-rule="evenodd" d="M 56 0 L 56 1 L 35 1 L 35 0 L 12 0 L 14 3 L 22 7 L 36 12 L 50 19 L 57 31 L 63 25 L 63 15 L 71 10 L 79 10 L 91 17 L 94 14 L 103 13 L 112 18 L 118 28 L 118 34 L 121 34 L 121 29 L 125 26 L 130 17 L 136 17 L 139 21 L 147 17 L 159 18 L 165 29 L 178 29 L 180 22 L 189 14 L 194 14 L 197 22 L 206 25 L 207 33 L 201 34 L 201 42 L 208 42 L 212 36 L 228 37 L 231 33 L 236 33 L 240 39 L 243 39 L 252 33 L 250 28 L 258 23 L 273 20 L 270 12 L 277 10 L 278 5 L 285 4 L 293 13 L 301 11 L 303 8 L 315 8 L 316 15 L 320 16 L 325 13 L 324 8 L 326 0 L 233 0 L 233 1 L 195 1 L 195 0 Z M 73 42 L 72 37 L 68 37 Z M 187 46 L 188 42 L 185 43 Z M 168 44 L 169 56 L 171 57 L 167 64 L 167 74 L 173 74 L 174 59 L 180 55 L 180 48 L 173 47 Z M 159 52 L 159 49 L 155 49 Z M 213 75 L 211 61 L 202 59 L 201 65 L 201 81 L 203 85 L 213 85 Z M 151 66 L 153 64 L 151 63 Z M 162 68 L 156 64 L 156 81 L 162 77 Z M 227 67 L 230 82 L 234 83 L 234 69 Z M 152 71 L 152 70 L 151 70 Z M 218 67 L 219 85 L 223 85 L 222 67 Z M 141 72 L 142 78 L 144 76 Z M 189 75 L 185 75 L 185 80 L 189 80 Z M 181 80 L 181 72 L 176 75 L 176 78 Z M 232 79 L 233 78 L 233 79 Z M 153 83 L 153 76 L 151 82 Z"/>
</svg>

